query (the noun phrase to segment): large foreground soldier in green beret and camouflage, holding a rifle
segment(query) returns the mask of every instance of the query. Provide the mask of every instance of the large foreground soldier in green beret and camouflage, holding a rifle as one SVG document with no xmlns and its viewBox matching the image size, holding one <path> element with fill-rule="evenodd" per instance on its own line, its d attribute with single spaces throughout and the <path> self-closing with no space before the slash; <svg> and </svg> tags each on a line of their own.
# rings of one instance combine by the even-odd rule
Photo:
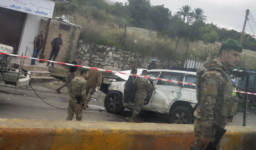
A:
<svg viewBox="0 0 256 150">
<path fill-rule="evenodd" d="M 194 112 L 194 142 L 190 150 L 205 149 L 214 141 L 214 124 L 224 128 L 228 117 L 235 113 L 237 99 L 232 95 L 230 71 L 237 65 L 243 47 L 233 39 L 227 39 L 220 47 L 218 58 L 207 58 L 200 84 L 198 108 Z M 221 149 L 221 143 L 217 145 Z"/>
</svg>

